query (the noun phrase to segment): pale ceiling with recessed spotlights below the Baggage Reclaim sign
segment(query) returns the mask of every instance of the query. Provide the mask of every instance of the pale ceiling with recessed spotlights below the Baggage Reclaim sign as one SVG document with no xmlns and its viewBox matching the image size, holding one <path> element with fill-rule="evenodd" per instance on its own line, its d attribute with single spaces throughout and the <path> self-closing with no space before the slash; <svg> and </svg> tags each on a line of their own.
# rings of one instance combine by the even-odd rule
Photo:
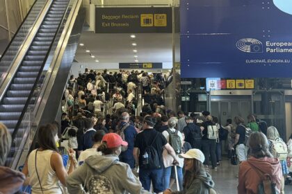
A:
<svg viewBox="0 0 292 194">
<path fill-rule="evenodd" d="M 75 60 L 82 64 L 95 63 L 119 63 L 119 62 L 172 62 L 172 34 L 148 33 L 135 34 L 111 33 L 96 34 L 83 31 Z M 132 46 L 136 43 L 137 46 Z M 84 44 L 84 46 L 80 46 Z M 176 35 L 176 61 L 179 61 L 179 35 Z M 134 53 L 136 49 L 138 52 Z M 86 53 L 89 50 L 89 53 Z M 94 55 L 95 58 L 91 58 Z M 135 58 L 134 55 L 138 57 Z"/>
</svg>

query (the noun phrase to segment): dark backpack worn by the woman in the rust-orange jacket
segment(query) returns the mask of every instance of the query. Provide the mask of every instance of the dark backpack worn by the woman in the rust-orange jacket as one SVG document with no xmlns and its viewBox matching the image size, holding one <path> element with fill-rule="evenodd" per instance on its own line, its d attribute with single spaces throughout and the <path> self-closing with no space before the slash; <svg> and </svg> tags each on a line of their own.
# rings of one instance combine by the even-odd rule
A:
<svg viewBox="0 0 292 194">
<path fill-rule="evenodd" d="M 248 164 L 250 164 L 250 167 L 252 167 L 252 169 L 257 173 L 257 175 L 259 175 L 259 177 L 261 178 L 261 182 L 260 184 L 257 186 L 258 194 L 277 194 L 276 191 L 276 184 L 274 182 L 272 182 L 272 178 L 271 175 L 265 173 L 261 173 L 257 168 L 255 168 L 250 161 L 248 161 Z"/>
</svg>

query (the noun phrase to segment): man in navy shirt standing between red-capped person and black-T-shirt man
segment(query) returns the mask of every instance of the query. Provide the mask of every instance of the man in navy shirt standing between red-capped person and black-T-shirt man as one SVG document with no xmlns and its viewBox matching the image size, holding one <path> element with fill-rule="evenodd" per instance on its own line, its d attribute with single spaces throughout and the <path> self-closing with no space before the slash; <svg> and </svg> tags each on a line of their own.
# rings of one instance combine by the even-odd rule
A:
<svg viewBox="0 0 292 194">
<path fill-rule="evenodd" d="M 124 130 L 124 141 L 127 141 L 128 148 L 120 155 L 120 161 L 129 164 L 131 168 L 135 167 L 135 159 L 133 157 L 133 145 L 136 139 L 137 131 L 129 122 L 130 116 L 129 113 L 123 112 L 120 117 L 120 124 L 118 126 L 119 130 Z"/>
</svg>

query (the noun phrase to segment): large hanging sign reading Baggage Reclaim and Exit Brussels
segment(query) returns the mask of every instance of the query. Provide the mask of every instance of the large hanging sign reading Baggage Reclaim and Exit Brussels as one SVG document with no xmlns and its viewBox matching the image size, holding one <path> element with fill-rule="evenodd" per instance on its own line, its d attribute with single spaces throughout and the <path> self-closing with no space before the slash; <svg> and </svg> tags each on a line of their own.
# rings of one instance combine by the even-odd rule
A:
<svg viewBox="0 0 292 194">
<path fill-rule="evenodd" d="M 172 9 L 95 8 L 95 33 L 172 33 Z"/>
</svg>

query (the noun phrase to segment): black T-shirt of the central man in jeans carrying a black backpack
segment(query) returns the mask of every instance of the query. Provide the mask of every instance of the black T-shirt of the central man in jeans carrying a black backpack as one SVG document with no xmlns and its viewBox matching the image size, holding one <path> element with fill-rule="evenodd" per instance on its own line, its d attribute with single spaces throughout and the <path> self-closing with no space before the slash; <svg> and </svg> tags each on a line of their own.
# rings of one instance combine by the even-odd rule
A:
<svg viewBox="0 0 292 194">
<path fill-rule="evenodd" d="M 164 166 L 163 166 L 162 152 L 163 152 L 164 145 L 168 143 L 168 141 L 165 139 L 165 136 L 163 136 L 163 134 L 161 134 L 160 132 L 157 132 L 154 129 L 145 129 L 143 130 L 143 132 L 140 132 L 137 134 L 134 148 L 139 148 L 140 150 L 139 164 L 142 164 L 142 156 L 144 155 L 145 149 L 147 145 L 151 145 L 156 134 L 158 134 L 158 136 L 156 137 L 153 143 L 153 147 L 157 150 L 161 168 L 163 168 Z"/>
</svg>

